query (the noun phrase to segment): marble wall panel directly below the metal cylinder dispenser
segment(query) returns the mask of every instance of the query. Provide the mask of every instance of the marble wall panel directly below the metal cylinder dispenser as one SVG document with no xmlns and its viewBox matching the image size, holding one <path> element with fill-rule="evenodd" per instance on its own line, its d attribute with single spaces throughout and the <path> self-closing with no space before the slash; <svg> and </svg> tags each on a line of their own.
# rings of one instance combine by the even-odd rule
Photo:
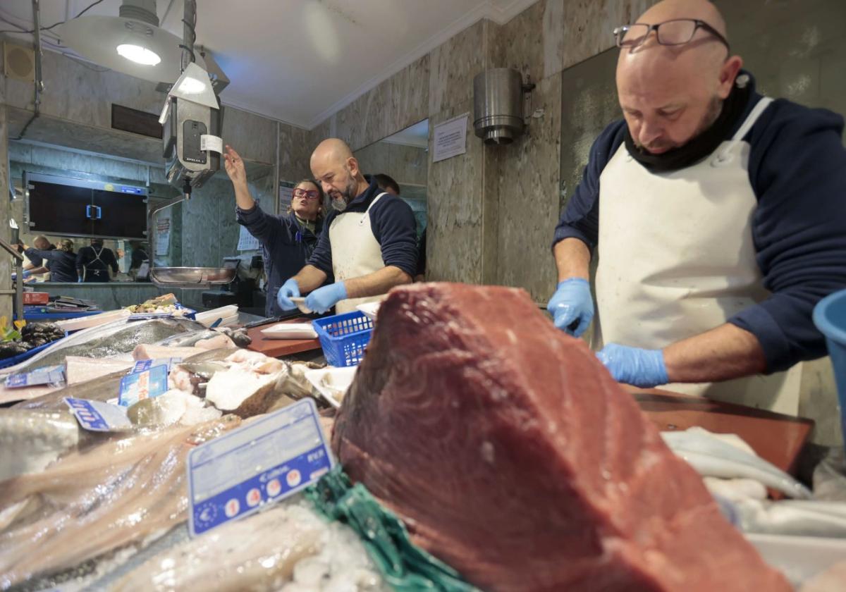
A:
<svg viewBox="0 0 846 592">
<path fill-rule="evenodd" d="M 513 145 L 501 147 L 492 171 L 498 178 L 497 283 L 525 288 L 546 302 L 556 283 L 550 244 L 558 222 L 561 75 L 542 79 L 532 99 L 542 117 L 532 118 Z"/>
</svg>

